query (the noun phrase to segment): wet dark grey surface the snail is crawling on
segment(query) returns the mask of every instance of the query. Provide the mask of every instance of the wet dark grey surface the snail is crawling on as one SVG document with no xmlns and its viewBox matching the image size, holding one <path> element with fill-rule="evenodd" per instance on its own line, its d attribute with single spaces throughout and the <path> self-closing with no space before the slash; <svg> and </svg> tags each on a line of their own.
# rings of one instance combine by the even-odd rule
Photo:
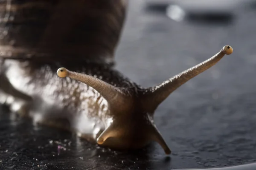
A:
<svg viewBox="0 0 256 170">
<path fill-rule="evenodd" d="M 151 144 L 131 153 L 0 111 L 0 169 L 170 170 L 256 161 L 256 11 L 240 8 L 230 24 L 177 23 L 131 1 L 117 69 L 143 86 L 208 59 L 234 53 L 187 82 L 159 106 L 155 122 L 172 154 Z"/>
</svg>

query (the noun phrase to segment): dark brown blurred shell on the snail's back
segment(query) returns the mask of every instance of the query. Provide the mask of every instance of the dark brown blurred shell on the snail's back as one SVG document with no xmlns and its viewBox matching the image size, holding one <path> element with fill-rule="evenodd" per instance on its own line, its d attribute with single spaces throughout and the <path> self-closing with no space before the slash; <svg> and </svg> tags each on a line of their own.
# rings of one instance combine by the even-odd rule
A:
<svg viewBox="0 0 256 170">
<path fill-rule="evenodd" d="M 113 62 L 127 0 L 3 0 L 0 57 Z"/>
</svg>

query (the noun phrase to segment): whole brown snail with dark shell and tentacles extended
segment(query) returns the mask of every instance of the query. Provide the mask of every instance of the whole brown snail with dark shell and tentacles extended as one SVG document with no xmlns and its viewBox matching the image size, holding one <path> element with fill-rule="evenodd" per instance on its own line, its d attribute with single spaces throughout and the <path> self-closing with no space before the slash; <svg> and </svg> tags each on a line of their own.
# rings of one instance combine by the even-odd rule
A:
<svg viewBox="0 0 256 170">
<path fill-rule="evenodd" d="M 170 154 L 154 124 L 158 105 L 233 53 L 225 45 L 206 61 L 143 88 L 114 68 L 127 0 L 7 0 L 5 5 L 0 102 L 35 123 L 70 130 L 104 147 L 137 149 L 155 141 Z"/>
</svg>

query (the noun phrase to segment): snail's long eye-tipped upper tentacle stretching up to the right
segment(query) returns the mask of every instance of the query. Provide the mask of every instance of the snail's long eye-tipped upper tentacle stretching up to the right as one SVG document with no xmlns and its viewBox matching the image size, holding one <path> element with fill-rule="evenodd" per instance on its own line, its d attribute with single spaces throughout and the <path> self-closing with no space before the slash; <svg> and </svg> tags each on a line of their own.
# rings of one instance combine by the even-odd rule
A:
<svg viewBox="0 0 256 170">
<path fill-rule="evenodd" d="M 185 82 L 189 81 L 193 77 L 197 76 L 198 74 L 206 71 L 207 69 L 211 68 L 215 65 L 225 54 L 229 55 L 233 53 L 233 48 L 229 45 L 224 46 L 221 51 L 215 54 L 210 59 L 207 59 L 204 62 L 201 62 L 198 65 L 195 65 L 192 68 L 189 68 L 186 71 L 177 74 L 176 76 L 172 77 L 152 88 L 148 88 L 145 90 L 143 94 L 143 106 L 148 111 L 154 111 L 161 102 L 163 102 L 173 91 L 183 85 Z"/>
</svg>

